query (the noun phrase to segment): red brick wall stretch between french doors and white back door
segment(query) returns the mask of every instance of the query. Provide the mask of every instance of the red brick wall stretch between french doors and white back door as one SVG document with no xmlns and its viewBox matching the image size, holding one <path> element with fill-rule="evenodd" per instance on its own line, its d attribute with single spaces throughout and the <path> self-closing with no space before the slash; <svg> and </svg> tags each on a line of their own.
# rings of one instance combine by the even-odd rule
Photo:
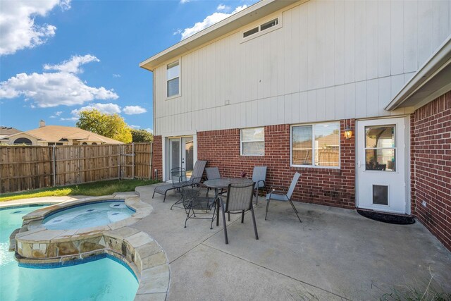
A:
<svg viewBox="0 0 451 301">
<path fill-rule="evenodd" d="M 354 120 L 347 121 L 354 130 Z M 341 121 L 341 131 L 345 121 Z M 353 209 L 355 207 L 355 140 L 340 135 L 341 168 L 295 168 L 290 166 L 290 125 L 265 127 L 265 155 L 240 156 L 240 130 L 211 130 L 197 133 L 197 159 L 218 166 L 223 177 L 252 177 L 254 166 L 268 166 L 267 187 L 289 186 L 293 174 L 301 173 L 293 199 Z"/>
</svg>

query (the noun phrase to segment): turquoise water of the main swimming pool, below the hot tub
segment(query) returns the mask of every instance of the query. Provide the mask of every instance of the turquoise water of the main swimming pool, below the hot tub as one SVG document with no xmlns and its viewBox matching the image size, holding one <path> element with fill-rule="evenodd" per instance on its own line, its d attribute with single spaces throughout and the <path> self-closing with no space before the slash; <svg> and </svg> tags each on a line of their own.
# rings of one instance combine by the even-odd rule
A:
<svg viewBox="0 0 451 301">
<path fill-rule="evenodd" d="M 99 259 L 54 269 L 19 267 L 9 235 L 39 207 L 0 209 L 0 300 L 133 300 L 138 283 L 123 264 Z"/>
</svg>

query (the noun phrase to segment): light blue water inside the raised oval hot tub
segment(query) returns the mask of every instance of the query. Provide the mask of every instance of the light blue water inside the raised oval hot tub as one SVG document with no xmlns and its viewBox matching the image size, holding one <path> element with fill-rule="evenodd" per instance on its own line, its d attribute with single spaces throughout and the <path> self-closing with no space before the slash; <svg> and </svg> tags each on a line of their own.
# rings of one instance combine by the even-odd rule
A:
<svg viewBox="0 0 451 301">
<path fill-rule="evenodd" d="M 124 201 L 105 201 L 82 204 L 51 214 L 43 221 L 44 227 L 51 230 L 70 230 L 103 226 L 127 219 L 135 211 Z"/>
</svg>

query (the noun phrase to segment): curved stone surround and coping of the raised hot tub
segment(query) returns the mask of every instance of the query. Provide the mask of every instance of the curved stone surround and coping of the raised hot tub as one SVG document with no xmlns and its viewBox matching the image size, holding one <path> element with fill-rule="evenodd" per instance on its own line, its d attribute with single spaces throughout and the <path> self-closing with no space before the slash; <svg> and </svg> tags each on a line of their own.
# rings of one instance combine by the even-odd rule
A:
<svg viewBox="0 0 451 301">
<path fill-rule="evenodd" d="M 106 199 L 125 199 L 125 204 L 136 212 L 106 226 L 73 230 L 49 230 L 42 226 L 44 218 L 53 211 Z M 11 235 L 11 245 L 23 264 L 61 263 L 109 254 L 125 262 L 135 274 L 140 285 L 135 300 L 166 300 L 170 273 L 166 253 L 147 233 L 130 228 L 152 210 L 152 205 L 130 194 L 55 204 L 23 216 L 23 227 Z"/>
</svg>

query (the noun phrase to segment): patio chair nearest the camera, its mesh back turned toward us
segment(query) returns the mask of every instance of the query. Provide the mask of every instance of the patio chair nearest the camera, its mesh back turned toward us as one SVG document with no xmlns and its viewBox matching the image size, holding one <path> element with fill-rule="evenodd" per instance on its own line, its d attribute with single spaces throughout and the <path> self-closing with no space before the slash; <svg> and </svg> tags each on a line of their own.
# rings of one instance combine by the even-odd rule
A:
<svg viewBox="0 0 451 301">
<path fill-rule="evenodd" d="M 257 233 L 257 224 L 255 223 L 254 207 L 252 206 L 252 198 L 254 197 L 254 182 L 229 184 L 227 188 L 226 204 L 223 202 L 223 197 L 220 197 L 221 208 L 223 209 L 223 225 L 224 238 L 226 245 L 228 245 L 226 212 L 228 214 L 241 214 L 241 223 L 245 221 L 245 211 L 251 211 L 252 222 L 254 223 L 255 239 L 259 239 Z"/>
</svg>

